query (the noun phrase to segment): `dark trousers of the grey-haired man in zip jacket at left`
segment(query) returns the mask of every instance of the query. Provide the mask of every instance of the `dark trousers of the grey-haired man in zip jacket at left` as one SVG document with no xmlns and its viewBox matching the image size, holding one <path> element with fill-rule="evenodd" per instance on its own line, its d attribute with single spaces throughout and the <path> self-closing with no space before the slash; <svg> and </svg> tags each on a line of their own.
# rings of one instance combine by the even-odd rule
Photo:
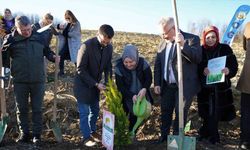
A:
<svg viewBox="0 0 250 150">
<path fill-rule="evenodd" d="M 29 133 L 29 97 L 32 109 L 32 130 L 34 135 L 42 133 L 42 103 L 44 83 L 14 83 L 17 106 L 17 121 L 20 131 Z"/>
</svg>

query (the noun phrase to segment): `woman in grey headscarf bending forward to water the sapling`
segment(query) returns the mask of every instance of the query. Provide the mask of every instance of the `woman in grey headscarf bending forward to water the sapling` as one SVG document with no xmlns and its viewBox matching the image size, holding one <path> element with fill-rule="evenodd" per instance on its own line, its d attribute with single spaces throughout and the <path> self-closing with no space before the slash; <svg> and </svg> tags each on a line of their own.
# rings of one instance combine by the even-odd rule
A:
<svg viewBox="0 0 250 150">
<path fill-rule="evenodd" d="M 144 96 L 153 102 L 149 91 L 152 71 L 146 60 L 139 57 L 136 46 L 128 44 L 124 47 L 122 57 L 117 60 L 115 66 L 115 79 L 117 88 L 122 94 L 124 111 L 129 115 L 129 131 L 131 131 L 137 119 L 133 114 L 133 102 L 138 97 Z"/>
</svg>

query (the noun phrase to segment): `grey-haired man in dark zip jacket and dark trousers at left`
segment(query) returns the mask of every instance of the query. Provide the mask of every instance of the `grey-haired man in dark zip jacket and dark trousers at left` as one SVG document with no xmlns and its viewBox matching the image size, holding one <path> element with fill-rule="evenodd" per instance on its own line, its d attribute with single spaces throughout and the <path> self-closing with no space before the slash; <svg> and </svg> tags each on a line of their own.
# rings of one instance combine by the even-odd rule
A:
<svg viewBox="0 0 250 150">
<path fill-rule="evenodd" d="M 40 141 L 42 133 L 42 102 L 45 90 L 43 57 L 58 61 L 55 54 L 46 45 L 42 34 L 32 32 L 31 23 L 26 16 L 15 18 L 16 29 L 8 34 L 3 42 L 3 53 L 11 58 L 14 94 L 17 106 L 17 120 L 20 135 L 17 142 L 31 140 L 28 114 L 29 97 L 32 108 L 33 143 Z"/>
</svg>

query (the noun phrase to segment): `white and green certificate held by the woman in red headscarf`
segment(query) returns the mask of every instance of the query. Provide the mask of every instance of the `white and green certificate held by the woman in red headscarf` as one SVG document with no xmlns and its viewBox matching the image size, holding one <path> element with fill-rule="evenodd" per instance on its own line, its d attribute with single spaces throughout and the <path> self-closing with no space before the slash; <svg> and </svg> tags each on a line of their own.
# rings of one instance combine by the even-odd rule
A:
<svg viewBox="0 0 250 150">
<path fill-rule="evenodd" d="M 207 84 L 220 83 L 225 81 L 225 74 L 221 72 L 226 66 L 226 56 L 217 57 L 208 61 L 209 75 L 207 76 Z"/>
</svg>

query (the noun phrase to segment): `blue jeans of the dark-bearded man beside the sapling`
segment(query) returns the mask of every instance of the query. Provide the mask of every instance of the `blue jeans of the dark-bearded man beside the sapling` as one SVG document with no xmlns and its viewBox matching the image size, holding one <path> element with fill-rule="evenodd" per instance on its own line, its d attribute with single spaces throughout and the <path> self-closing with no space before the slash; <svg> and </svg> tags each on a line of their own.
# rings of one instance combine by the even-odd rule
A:
<svg viewBox="0 0 250 150">
<path fill-rule="evenodd" d="M 92 104 L 78 101 L 78 109 L 80 113 L 80 129 L 84 139 L 87 139 L 92 132 L 96 131 L 96 121 L 100 111 L 99 101 Z"/>
</svg>

